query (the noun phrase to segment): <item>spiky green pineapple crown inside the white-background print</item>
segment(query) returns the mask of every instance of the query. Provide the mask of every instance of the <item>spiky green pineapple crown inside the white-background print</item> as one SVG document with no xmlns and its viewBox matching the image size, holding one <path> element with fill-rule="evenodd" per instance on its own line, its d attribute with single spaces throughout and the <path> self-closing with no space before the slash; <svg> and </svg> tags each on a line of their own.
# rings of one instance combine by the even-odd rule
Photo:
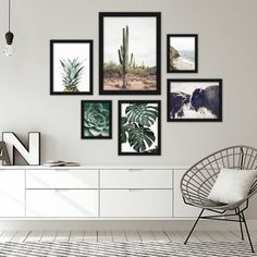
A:
<svg viewBox="0 0 257 257">
<path fill-rule="evenodd" d="M 82 74 L 85 69 L 84 61 L 78 61 L 78 58 L 60 60 L 63 69 L 62 84 L 66 93 L 78 93 L 78 84 L 82 79 Z"/>
</svg>

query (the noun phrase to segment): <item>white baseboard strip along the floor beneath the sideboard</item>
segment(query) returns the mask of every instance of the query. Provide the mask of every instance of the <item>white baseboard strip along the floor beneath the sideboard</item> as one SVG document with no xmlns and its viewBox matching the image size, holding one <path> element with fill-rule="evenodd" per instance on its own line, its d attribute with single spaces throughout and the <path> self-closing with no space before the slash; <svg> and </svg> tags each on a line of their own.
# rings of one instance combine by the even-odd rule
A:
<svg viewBox="0 0 257 257">
<path fill-rule="evenodd" d="M 0 221 L 0 230 L 17 230 L 17 231 L 71 231 L 71 230 L 85 230 L 85 231 L 186 231 L 193 225 L 193 220 L 180 221 L 71 221 L 71 220 L 42 220 L 42 221 Z M 257 230 L 257 219 L 247 220 L 249 230 Z M 196 230 L 198 231 L 225 231 L 238 230 L 238 224 L 235 222 L 223 221 L 207 221 L 203 220 L 198 223 Z"/>
</svg>

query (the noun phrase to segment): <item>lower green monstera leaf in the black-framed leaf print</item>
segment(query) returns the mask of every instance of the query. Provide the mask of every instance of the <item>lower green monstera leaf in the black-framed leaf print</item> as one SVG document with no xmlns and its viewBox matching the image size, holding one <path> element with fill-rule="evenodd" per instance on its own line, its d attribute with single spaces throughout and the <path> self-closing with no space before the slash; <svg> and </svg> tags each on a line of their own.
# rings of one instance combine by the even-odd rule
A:
<svg viewBox="0 0 257 257">
<path fill-rule="evenodd" d="M 128 131 L 128 143 L 137 152 L 144 152 L 156 140 L 155 133 L 140 124 L 133 124 L 133 128 Z"/>
</svg>

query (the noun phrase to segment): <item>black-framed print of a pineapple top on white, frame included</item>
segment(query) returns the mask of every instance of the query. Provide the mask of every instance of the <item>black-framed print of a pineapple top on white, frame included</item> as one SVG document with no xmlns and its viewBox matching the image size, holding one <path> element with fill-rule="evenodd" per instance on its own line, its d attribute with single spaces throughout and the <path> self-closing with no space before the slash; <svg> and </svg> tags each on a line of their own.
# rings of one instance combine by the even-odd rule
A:
<svg viewBox="0 0 257 257">
<path fill-rule="evenodd" d="M 50 95 L 93 94 L 93 40 L 50 40 Z"/>
</svg>

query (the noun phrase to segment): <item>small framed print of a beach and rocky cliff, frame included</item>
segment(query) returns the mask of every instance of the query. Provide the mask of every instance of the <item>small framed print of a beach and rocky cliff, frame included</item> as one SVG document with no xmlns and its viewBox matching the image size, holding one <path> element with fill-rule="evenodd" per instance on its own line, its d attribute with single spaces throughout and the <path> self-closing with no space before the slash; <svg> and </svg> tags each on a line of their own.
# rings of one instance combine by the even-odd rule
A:
<svg viewBox="0 0 257 257">
<path fill-rule="evenodd" d="M 198 72 L 198 35 L 167 35 L 167 72 Z"/>
</svg>

